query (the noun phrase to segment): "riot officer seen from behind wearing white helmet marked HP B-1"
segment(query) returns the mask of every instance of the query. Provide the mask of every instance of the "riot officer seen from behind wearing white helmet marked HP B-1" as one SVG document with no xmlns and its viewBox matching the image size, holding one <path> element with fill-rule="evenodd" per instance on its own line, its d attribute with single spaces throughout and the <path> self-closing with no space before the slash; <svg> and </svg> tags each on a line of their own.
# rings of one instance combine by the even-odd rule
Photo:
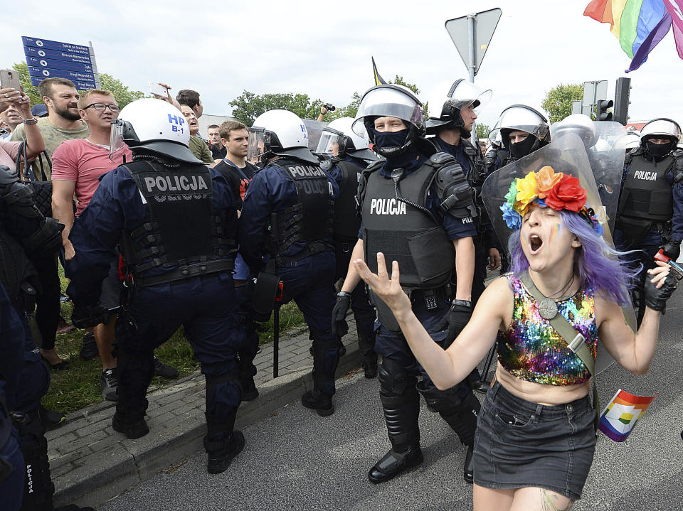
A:
<svg viewBox="0 0 683 511">
<path fill-rule="evenodd" d="M 171 104 L 139 99 L 112 124 L 111 151 L 125 142 L 133 161 L 102 177 L 70 233 L 79 247 L 68 286 L 72 320 L 102 322 L 100 284 L 119 244 L 129 293 L 116 323 L 120 383 L 112 427 L 129 439 L 149 432 L 145 392 L 154 348 L 184 326 L 206 378 L 208 472 L 221 473 L 245 443 L 233 431 L 244 340 L 232 277 L 233 194 L 221 173 L 191 154 L 186 121 Z"/>
</svg>

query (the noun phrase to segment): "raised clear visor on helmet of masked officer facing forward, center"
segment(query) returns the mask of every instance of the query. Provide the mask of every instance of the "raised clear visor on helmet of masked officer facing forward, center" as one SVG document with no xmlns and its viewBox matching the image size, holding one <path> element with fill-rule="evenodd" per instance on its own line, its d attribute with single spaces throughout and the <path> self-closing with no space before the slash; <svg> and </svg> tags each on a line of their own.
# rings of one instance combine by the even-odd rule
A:
<svg viewBox="0 0 683 511">
<path fill-rule="evenodd" d="M 422 104 L 411 93 L 392 86 L 373 87 L 365 93 L 356 113 L 356 120 L 351 126 L 358 136 L 365 136 L 366 117 L 397 117 L 402 121 L 422 129 L 425 124 L 425 111 Z"/>
</svg>

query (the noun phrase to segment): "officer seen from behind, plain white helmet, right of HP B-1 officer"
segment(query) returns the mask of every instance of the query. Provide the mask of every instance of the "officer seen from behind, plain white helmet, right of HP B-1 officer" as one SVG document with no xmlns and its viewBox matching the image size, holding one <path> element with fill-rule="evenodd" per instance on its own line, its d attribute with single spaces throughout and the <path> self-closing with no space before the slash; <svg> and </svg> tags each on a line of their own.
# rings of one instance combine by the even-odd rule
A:
<svg viewBox="0 0 683 511">
<path fill-rule="evenodd" d="M 333 188 L 309 151 L 306 126 L 292 112 L 271 110 L 255 119 L 248 159 L 254 157 L 264 167 L 244 198 L 240 254 L 254 275 L 265 269 L 264 274 L 277 276 L 283 301 L 293 299 L 304 314 L 313 341 L 313 389 L 302 395 L 301 402 L 318 415 L 329 416 L 334 413 L 334 371 L 339 362 L 338 338 L 330 327 L 336 185 Z M 258 281 L 263 281 L 261 276 Z"/>
</svg>

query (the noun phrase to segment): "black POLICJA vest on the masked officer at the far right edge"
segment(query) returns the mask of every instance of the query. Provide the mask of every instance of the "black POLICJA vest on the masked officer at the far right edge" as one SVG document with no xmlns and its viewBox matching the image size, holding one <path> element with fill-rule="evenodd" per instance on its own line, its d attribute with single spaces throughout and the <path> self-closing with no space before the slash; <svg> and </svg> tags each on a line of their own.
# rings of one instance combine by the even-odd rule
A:
<svg viewBox="0 0 683 511">
<path fill-rule="evenodd" d="M 672 156 L 655 163 L 635 155 L 623 183 L 618 214 L 648 222 L 671 220 L 674 198 L 667 173 L 673 164 Z"/>
</svg>

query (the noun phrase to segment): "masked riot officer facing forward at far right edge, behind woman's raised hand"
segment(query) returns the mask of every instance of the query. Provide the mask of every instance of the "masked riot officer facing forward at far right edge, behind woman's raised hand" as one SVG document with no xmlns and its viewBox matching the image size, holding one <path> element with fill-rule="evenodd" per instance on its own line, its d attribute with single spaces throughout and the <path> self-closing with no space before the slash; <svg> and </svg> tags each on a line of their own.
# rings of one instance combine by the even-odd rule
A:
<svg viewBox="0 0 683 511">
<path fill-rule="evenodd" d="M 683 150 L 677 149 L 681 127 L 672 119 L 652 119 L 640 130 L 640 146 L 626 155 L 622 190 L 617 208 L 615 246 L 635 250 L 625 257 L 642 265 L 640 282 L 633 291 L 640 324 L 645 303 L 642 294 L 647 270 L 659 249 L 677 259 L 683 240 Z"/>
</svg>

